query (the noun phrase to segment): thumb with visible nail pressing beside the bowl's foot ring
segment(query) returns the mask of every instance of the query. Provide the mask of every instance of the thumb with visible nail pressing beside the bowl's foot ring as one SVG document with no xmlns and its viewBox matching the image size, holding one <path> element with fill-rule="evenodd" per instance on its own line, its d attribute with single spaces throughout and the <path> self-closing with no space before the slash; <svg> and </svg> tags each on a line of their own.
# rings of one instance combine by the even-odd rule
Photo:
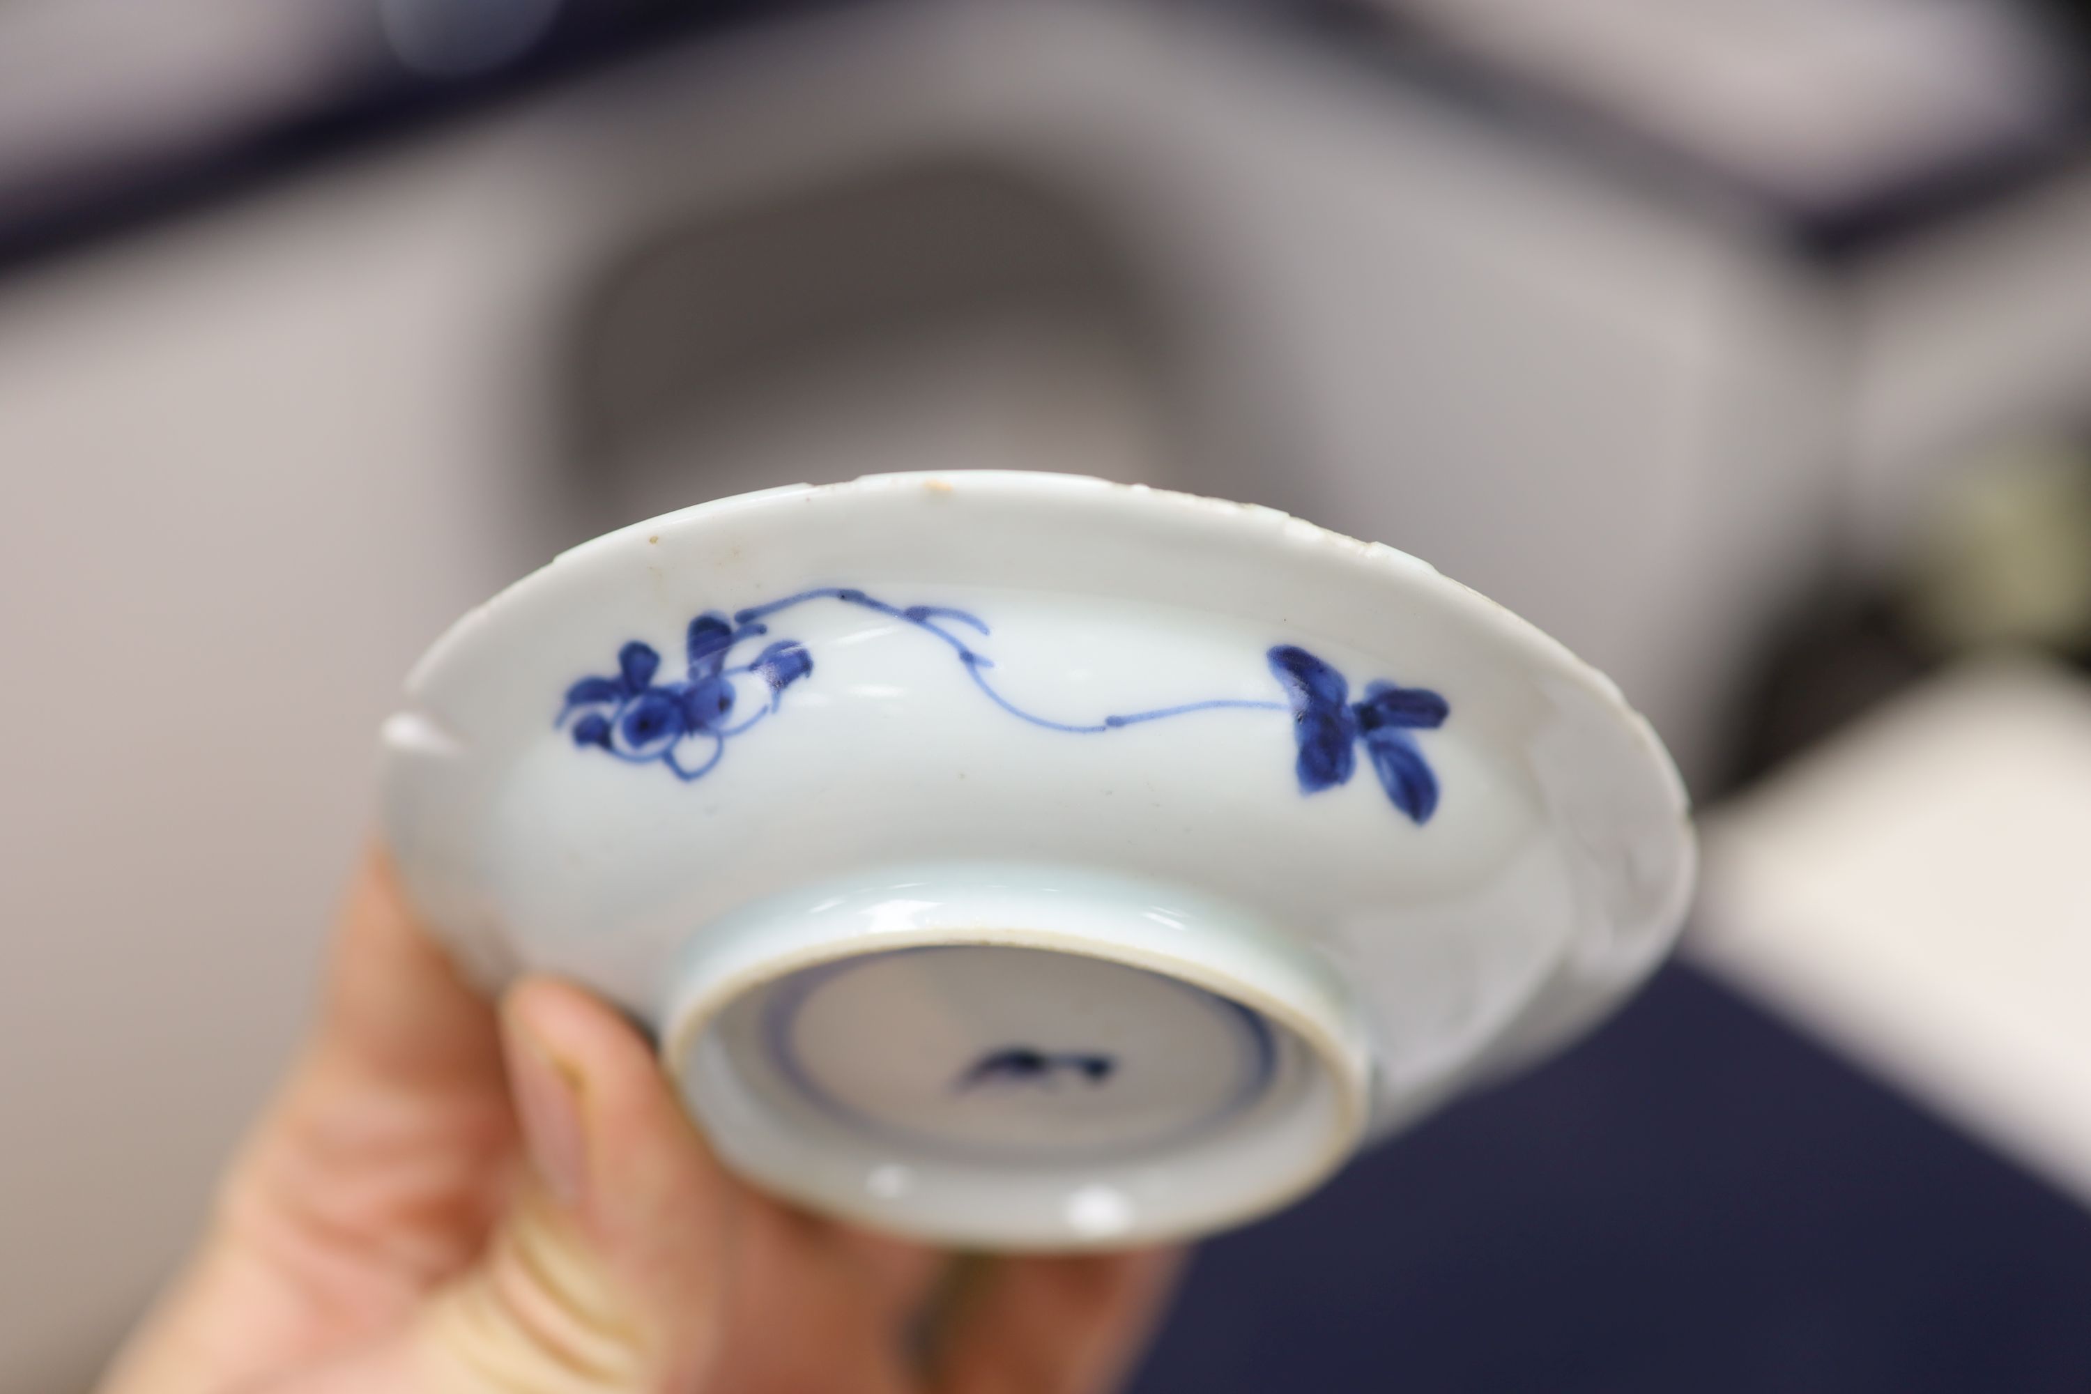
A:
<svg viewBox="0 0 2091 1394">
<path fill-rule="evenodd" d="M 450 1394 L 688 1394 L 721 1338 L 734 1195 L 654 1055 L 581 989 L 525 980 L 502 1003 L 529 1149 L 485 1258 L 408 1342 Z"/>
</svg>

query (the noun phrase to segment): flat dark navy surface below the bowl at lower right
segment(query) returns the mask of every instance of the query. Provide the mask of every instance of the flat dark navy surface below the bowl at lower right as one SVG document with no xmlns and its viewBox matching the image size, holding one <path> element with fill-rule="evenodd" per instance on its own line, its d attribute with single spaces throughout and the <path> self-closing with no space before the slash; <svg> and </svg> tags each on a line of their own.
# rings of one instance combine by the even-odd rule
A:
<svg viewBox="0 0 2091 1394">
<path fill-rule="evenodd" d="M 1138 1394 L 2091 1390 L 2091 1212 L 1667 968 L 1211 1241 Z"/>
</svg>

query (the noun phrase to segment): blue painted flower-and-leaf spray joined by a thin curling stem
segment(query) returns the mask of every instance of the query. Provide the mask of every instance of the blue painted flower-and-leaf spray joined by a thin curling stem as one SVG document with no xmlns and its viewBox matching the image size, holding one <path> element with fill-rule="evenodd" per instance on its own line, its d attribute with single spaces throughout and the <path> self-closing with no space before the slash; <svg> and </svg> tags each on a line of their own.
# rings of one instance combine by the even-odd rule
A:
<svg viewBox="0 0 2091 1394">
<path fill-rule="evenodd" d="M 774 715 L 784 690 L 813 671 L 813 656 L 797 640 L 774 640 L 751 660 L 732 663 L 734 650 L 769 633 L 772 614 L 813 600 L 872 610 L 935 635 L 964 665 L 966 675 L 989 702 L 1018 721 L 1064 731 L 1069 736 L 1100 736 L 1146 721 L 1167 721 L 1202 711 L 1290 711 L 1299 744 L 1296 773 L 1303 794 L 1347 784 L 1355 769 L 1355 746 L 1365 746 L 1380 786 L 1411 821 L 1426 823 L 1439 805 L 1439 782 L 1416 746 L 1411 731 L 1437 729 L 1451 706 L 1428 688 L 1401 688 L 1372 681 L 1365 696 L 1349 700 L 1349 681 L 1305 648 L 1280 644 L 1265 658 L 1286 700 L 1209 698 L 1150 711 L 1115 713 L 1100 721 L 1058 721 L 1027 711 L 995 690 L 989 673 L 995 660 L 976 650 L 968 637 L 989 635 L 987 623 L 949 606 L 895 606 L 855 587 L 828 585 L 805 589 L 769 604 L 749 606 L 728 621 L 719 610 L 705 610 L 690 621 L 684 635 L 684 675 L 657 681 L 661 654 L 650 644 L 634 640 L 617 650 L 617 673 L 592 675 L 567 688 L 567 700 L 554 727 L 571 721 L 573 744 L 594 746 L 634 765 L 661 763 L 680 780 L 700 780 L 711 773 L 726 742 Z M 742 719 L 742 683 L 757 686 L 759 704 Z"/>
</svg>

